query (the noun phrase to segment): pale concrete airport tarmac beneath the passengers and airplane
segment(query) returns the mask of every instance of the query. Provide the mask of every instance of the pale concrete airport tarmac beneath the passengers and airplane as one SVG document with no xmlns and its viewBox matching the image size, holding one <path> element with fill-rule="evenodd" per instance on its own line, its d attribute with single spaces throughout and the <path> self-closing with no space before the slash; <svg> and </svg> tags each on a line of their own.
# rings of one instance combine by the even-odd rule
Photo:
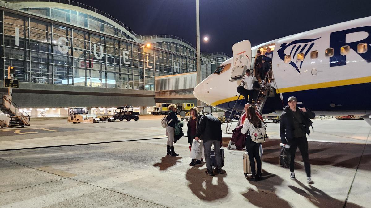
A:
<svg viewBox="0 0 371 208">
<path fill-rule="evenodd" d="M 0 129 L 0 207 L 370 207 L 371 127 L 365 121 L 313 121 L 315 183 L 307 185 L 299 152 L 296 181 L 279 166 L 279 124 L 267 122 L 264 180 L 252 182 L 243 175 L 243 151 L 223 147 L 226 174 L 213 177 L 204 174 L 205 164 L 188 165 L 187 137 L 175 144 L 178 157 L 165 156 L 160 119 L 35 120 Z M 226 146 L 230 135 L 223 137 Z"/>
</svg>

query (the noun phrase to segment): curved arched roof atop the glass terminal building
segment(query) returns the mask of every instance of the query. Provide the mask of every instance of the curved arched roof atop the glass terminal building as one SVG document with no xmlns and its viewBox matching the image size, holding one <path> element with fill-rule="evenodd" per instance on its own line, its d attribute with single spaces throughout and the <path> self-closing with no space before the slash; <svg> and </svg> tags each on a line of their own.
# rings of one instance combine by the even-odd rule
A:
<svg viewBox="0 0 371 208">
<path fill-rule="evenodd" d="M 55 3 L 50 1 L 15 0 L 7 2 L 5 7 L 22 10 L 23 12 L 32 15 L 46 17 L 55 21 L 72 24 L 77 27 L 87 28 L 99 33 L 126 38 L 141 44 L 151 44 L 154 47 L 159 47 L 161 45 L 155 43 L 165 42 L 173 44 L 179 48 L 186 48 L 187 50 L 196 53 L 196 47 L 183 38 L 172 35 L 155 35 L 147 37 L 135 34 L 130 28 L 109 14 L 75 1 L 64 0 L 63 3 Z M 161 46 L 160 48 L 163 47 Z M 163 49 L 170 50 L 168 48 Z M 184 54 L 193 56 L 189 51 Z"/>
</svg>

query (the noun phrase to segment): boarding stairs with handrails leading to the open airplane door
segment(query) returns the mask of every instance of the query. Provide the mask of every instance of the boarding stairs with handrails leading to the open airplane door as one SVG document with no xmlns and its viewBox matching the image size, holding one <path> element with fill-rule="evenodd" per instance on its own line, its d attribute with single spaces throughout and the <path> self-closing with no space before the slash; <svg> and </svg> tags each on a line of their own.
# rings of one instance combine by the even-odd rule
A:
<svg viewBox="0 0 371 208">
<path fill-rule="evenodd" d="M 266 83 L 265 80 L 269 78 L 269 82 Z M 257 94 L 257 97 L 256 99 L 253 99 L 253 102 L 252 102 L 252 106 L 255 107 L 255 109 L 257 111 L 259 111 L 259 113 L 262 115 L 262 112 L 263 112 L 263 108 L 264 108 L 264 105 L 266 103 L 266 100 L 268 97 L 274 97 L 276 94 L 276 89 L 274 87 L 271 86 L 271 83 L 273 83 L 274 81 L 274 78 L 273 78 L 273 73 L 272 73 L 272 64 L 270 65 L 270 68 L 265 76 L 265 78 L 262 80 L 262 83 L 260 85 L 260 90 L 259 90 L 259 93 Z M 241 99 L 240 99 L 241 98 Z M 236 122 L 236 126 L 234 128 L 236 128 L 237 126 L 239 126 L 241 123 L 242 123 L 242 115 L 245 113 L 244 110 L 241 112 L 239 111 L 238 109 L 240 109 L 240 105 L 241 105 L 241 101 L 239 100 L 243 100 L 244 97 L 243 95 L 239 94 L 238 97 L 237 97 L 237 100 L 236 100 L 236 103 L 234 104 L 233 108 L 232 108 L 232 112 L 231 114 L 229 115 L 229 118 L 227 120 L 227 127 L 226 127 L 226 132 L 227 133 L 232 133 L 232 131 L 230 131 L 230 128 L 232 127 L 232 123 L 234 121 L 234 119 L 232 118 L 231 119 L 231 116 L 234 115 L 234 113 L 241 113 L 241 116 L 240 116 L 240 119 Z M 238 106 L 236 107 L 236 105 L 238 104 Z M 228 150 L 230 148 L 232 148 L 232 145 L 234 145 L 234 142 L 232 140 L 229 141 L 229 144 L 227 146 Z"/>
</svg>

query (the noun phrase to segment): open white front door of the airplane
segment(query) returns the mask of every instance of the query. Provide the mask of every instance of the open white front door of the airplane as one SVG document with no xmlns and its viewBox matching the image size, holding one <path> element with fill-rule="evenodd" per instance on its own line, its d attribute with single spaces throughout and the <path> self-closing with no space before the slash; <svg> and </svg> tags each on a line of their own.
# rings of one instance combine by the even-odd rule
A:
<svg viewBox="0 0 371 208">
<path fill-rule="evenodd" d="M 251 65 L 251 43 L 248 40 L 235 43 L 233 49 L 233 69 L 229 81 L 236 81 L 243 77 L 246 69 Z"/>
</svg>

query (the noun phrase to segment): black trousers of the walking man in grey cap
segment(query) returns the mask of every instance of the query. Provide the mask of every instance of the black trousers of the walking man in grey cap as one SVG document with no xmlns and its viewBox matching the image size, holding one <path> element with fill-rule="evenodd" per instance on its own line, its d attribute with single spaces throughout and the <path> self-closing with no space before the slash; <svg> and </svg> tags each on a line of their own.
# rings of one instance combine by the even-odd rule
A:
<svg viewBox="0 0 371 208">
<path fill-rule="evenodd" d="M 294 172 L 294 163 L 295 163 L 295 153 L 296 149 L 299 147 L 300 153 L 303 158 L 304 167 L 306 176 L 311 177 L 311 164 L 309 163 L 309 155 L 308 155 L 308 141 L 306 140 L 306 136 L 293 138 L 289 140 L 290 145 L 290 153 L 291 153 L 291 162 L 290 162 L 290 171 Z"/>
</svg>

